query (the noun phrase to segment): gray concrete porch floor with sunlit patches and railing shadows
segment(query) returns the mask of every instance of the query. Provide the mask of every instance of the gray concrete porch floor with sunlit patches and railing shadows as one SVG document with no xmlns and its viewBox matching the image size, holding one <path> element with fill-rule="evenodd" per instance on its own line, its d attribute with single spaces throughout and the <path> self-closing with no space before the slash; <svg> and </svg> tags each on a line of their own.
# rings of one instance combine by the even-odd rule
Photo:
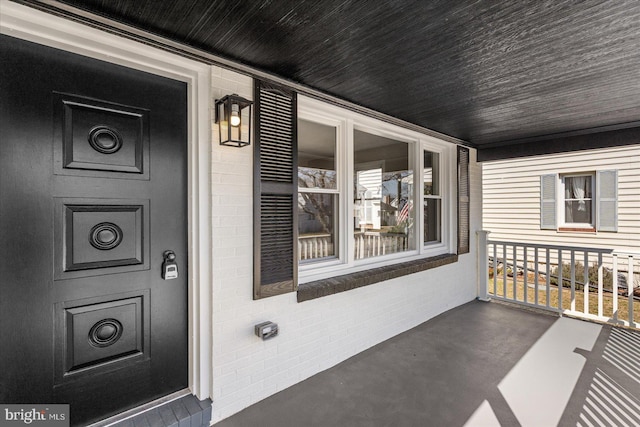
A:
<svg viewBox="0 0 640 427">
<path fill-rule="evenodd" d="M 638 426 L 640 332 L 474 301 L 215 425 Z"/>
</svg>

